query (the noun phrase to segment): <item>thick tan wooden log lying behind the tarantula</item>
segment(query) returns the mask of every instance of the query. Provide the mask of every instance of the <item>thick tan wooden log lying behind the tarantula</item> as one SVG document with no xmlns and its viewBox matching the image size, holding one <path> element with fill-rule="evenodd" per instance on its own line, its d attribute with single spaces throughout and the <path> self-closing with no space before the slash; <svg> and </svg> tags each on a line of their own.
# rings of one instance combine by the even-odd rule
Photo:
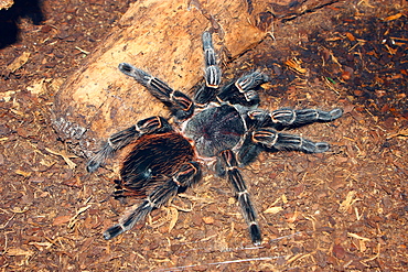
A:
<svg viewBox="0 0 408 272">
<path fill-rule="evenodd" d="M 201 35 L 230 56 L 261 41 L 253 1 L 141 0 L 133 3 L 106 41 L 72 75 L 56 95 L 52 121 L 77 154 L 89 155 L 109 134 L 167 109 L 142 86 L 118 70 L 126 62 L 189 93 L 203 77 Z M 259 1 L 256 10 L 265 10 Z M 249 6 L 248 6 L 249 3 Z M 219 52 L 219 51 L 218 51 Z"/>
</svg>

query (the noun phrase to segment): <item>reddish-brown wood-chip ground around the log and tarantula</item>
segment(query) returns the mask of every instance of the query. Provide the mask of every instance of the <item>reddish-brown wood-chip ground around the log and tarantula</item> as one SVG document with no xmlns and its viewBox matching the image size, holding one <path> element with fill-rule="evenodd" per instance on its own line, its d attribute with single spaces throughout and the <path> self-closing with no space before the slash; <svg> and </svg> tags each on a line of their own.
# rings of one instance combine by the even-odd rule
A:
<svg viewBox="0 0 408 272">
<path fill-rule="evenodd" d="M 262 153 L 244 170 L 259 247 L 229 186 L 211 174 L 146 224 L 103 239 L 126 208 L 111 197 L 116 176 L 87 174 L 50 112 L 131 1 L 34 2 L 0 11 L 2 271 L 408 270 L 406 1 L 283 12 L 257 47 L 224 62 L 226 75 L 259 68 L 273 78 L 261 108 L 344 109 L 293 131 L 330 142 L 330 152 Z"/>
</svg>

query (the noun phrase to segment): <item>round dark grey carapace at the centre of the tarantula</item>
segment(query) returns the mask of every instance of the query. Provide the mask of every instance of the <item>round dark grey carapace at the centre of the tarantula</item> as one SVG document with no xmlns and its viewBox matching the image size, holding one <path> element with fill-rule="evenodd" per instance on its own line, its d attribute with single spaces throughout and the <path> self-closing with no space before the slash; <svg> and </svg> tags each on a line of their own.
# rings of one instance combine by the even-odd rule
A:
<svg viewBox="0 0 408 272">
<path fill-rule="evenodd" d="M 184 134 L 192 139 L 201 156 L 217 156 L 233 149 L 245 133 L 239 112 L 229 105 L 207 108 L 190 119 Z"/>
</svg>

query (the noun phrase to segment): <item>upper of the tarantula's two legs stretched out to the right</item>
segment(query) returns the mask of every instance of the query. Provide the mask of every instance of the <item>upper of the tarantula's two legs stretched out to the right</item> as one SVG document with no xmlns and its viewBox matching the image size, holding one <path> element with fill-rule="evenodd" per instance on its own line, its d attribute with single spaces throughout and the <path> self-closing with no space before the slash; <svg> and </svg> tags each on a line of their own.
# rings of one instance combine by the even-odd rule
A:
<svg viewBox="0 0 408 272">
<path fill-rule="evenodd" d="M 249 119 L 255 121 L 258 127 L 273 127 L 281 129 L 283 127 L 297 127 L 312 122 L 330 122 L 343 115 L 340 108 L 331 111 L 320 109 L 300 109 L 293 110 L 282 108 L 267 112 L 262 110 L 253 110 L 248 112 Z"/>
</svg>

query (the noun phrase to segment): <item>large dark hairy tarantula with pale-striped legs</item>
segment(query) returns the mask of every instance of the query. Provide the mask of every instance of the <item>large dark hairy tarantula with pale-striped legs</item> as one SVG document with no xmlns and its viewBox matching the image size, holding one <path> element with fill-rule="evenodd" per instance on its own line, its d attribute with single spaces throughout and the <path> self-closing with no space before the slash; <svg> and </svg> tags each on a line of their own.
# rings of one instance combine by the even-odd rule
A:
<svg viewBox="0 0 408 272">
<path fill-rule="evenodd" d="M 122 162 L 120 179 L 115 181 L 114 195 L 117 198 L 144 197 L 139 206 L 104 232 L 107 240 L 131 229 L 150 211 L 197 184 L 205 166 L 226 177 L 232 185 L 250 239 L 254 244 L 260 244 L 257 213 L 239 168 L 253 162 L 261 151 L 320 153 L 329 150 L 325 142 L 312 142 L 280 131 L 332 121 L 343 115 L 342 109 L 282 108 L 271 112 L 258 109 L 257 89 L 269 78 L 254 70 L 221 87 L 222 70 L 212 34 L 204 32 L 202 42 L 205 84 L 195 88 L 193 99 L 130 64 L 119 64 L 120 72 L 133 77 L 169 107 L 173 126 L 163 117 L 141 120 L 112 134 L 89 160 L 87 171 L 95 172 L 106 159 L 132 144 Z"/>
</svg>

